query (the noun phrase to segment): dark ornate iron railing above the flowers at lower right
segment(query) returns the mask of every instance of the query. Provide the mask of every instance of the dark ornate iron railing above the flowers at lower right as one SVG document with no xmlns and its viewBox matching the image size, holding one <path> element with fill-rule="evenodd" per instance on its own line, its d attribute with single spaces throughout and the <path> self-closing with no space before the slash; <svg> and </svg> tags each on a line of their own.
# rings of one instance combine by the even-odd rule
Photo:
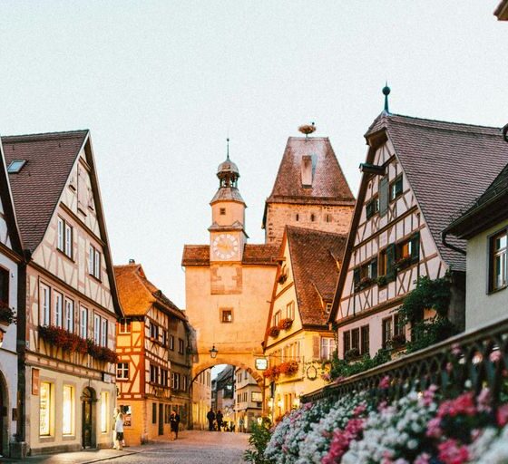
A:
<svg viewBox="0 0 508 464">
<path fill-rule="evenodd" d="M 391 401 L 435 384 L 445 396 L 489 387 L 495 405 L 507 383 L 508 319 L 504 319 L 331 383 L 305 395 L 302 402 L 338 398 L 354 391 L 369 391 L 380 400 Z"/>
</svg>

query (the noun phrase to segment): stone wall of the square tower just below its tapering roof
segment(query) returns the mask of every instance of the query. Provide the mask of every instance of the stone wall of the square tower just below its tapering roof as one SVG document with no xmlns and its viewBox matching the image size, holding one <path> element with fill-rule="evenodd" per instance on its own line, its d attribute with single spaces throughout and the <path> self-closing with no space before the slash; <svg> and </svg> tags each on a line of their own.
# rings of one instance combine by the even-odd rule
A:
<svg viewBox="0 0 508 464">
<path fill-rule="evenodd" d="M 286 226 L 307 227 L 324 232 L 347 234 L 353 211 L 354 206 L 269 203 L 265 241 L 269 244 L 280 244 Z M 314 215 L 314 220 L 312 220 L 312 215 Z"/>
</svg>

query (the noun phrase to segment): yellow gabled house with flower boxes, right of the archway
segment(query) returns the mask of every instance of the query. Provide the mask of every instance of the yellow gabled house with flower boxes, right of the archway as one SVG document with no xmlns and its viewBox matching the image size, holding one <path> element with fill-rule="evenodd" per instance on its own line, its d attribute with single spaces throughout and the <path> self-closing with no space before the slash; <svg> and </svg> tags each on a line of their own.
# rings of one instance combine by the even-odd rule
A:
<svg viewBox="0 0 508 464">
<path fill-rule="evenodd" d="M 278 419 L 323 386 L 323 361 L 336 350 L 327 319 L 346 235 L 286 227 L 264 340 L 265 411 Z"/>
</svg>

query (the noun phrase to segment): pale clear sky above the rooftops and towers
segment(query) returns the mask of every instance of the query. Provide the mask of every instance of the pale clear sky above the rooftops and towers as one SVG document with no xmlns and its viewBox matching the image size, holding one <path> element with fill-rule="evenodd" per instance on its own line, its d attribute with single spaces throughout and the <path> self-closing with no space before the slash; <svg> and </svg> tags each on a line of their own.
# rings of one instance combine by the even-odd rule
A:
<svg viewBox="0 0 508 464">
<path fill-rule="evenodd" d="M 316 121 L 357 195 L 383 108 L 508 122 L 499 0 L 0 3 L 0 134 L 90 129 L 115 264 L 185 306 L 181 252 L 207 244 L 230 155 L 260 228 L 286 140 Z"/>
</svg>

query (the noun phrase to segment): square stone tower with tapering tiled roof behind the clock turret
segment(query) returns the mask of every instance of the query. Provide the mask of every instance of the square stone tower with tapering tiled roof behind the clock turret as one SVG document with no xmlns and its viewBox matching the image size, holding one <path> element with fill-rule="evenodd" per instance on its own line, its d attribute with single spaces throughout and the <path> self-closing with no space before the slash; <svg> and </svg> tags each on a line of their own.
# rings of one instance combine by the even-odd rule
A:
<svg viewBox="0 0 508 464">
<path fill-rule="evenodd" d="M 355 198 L 327 137 L 289 137 L 265 203 L 267 244 L 279 245 L 286 226 L 346 234 Z"/>
</svg>

